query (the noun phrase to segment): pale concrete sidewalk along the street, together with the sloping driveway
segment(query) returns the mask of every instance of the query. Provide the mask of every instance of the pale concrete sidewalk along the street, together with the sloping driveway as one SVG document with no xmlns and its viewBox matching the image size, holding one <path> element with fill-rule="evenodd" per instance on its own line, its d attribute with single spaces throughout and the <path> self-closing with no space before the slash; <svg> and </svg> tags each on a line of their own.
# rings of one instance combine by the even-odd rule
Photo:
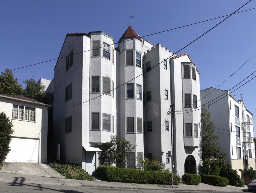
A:
<svg viewBox="0 0 256 193">
<path fill-rule="evenodd" d="M 230 186 L 217 187 L 200 183 L 199 185 L 179 185 L 166 188 L 162 184 L 135 184 L 121 182 L 107 182 L 95 177 L 94 181 L 65 179 L 64 176 L 50 168 L 48 164 L 40 163 L 4 163 L 0 170 L 0 182 L 9 182 L 12 185 L 20 184 L 46 184 L 46 185 L 67 185 L 84 186 L 113 189 L 134 189 L 134 190 L 180 190 L 180 191 L 247 191 L 247 186 L 243 188 Z"/>
</svg>

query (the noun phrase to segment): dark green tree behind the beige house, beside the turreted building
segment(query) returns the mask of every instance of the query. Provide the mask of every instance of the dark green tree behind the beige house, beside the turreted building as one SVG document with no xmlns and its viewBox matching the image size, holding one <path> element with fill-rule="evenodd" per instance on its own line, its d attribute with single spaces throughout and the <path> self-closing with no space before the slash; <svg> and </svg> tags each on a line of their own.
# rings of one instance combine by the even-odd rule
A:
<svg viewBox="0 0 256 193">
<path fill-rule="evenodd" d="M 44 100 L 46 93 L 44 92 L 45 86 L 43 84 L 36 82 L 32 78 L 26 79 L 22 82 L 26 84 L 26 88 L 23 91 L 23 96 L 40 102 Z"/>
</svg>

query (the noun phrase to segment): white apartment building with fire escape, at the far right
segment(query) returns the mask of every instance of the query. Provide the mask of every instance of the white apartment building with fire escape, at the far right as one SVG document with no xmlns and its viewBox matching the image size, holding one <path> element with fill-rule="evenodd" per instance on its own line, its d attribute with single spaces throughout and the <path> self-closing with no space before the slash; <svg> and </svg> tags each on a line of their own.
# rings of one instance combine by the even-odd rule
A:
<svg viewBox="0 0 256 193">
<path fill-rule="evenodd" d="M 226 154 L 232 169 L 236 169 L 241 178 L 244 168 L 255 170 L 253 113 L 228 90 L 201 90 L 201 104 L 212 104 L 206 108 L 215 125 L 214 134 L 219 136 L 217 146 L 220 147 L 220 153 Z"/>
</svg>

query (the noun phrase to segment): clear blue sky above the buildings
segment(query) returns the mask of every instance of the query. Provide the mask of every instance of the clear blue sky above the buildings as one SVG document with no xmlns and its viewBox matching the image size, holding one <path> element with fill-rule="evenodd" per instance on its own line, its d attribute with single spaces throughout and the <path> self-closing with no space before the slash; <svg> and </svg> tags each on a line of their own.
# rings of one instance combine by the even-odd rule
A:
<svg viewBox="0 0 256 193">
<path fill-rule="evenodd" d="M 156 3 L 157 2 L 157 3 Z M 232 14 L 247 1 L 2 1 L 0 7 L 0 72 L 58 58 L 67 33 L 103 31 L 120 39 L 129 26 L 145 36 Z M 249 2 L 239 11 L 256 8 Z M 225 17 L 145 37 L 173 53 L 192 42 Z M 256 9 L 233 14 L 177 54 L 187 52 L 200 72 L 201 90 L 219 86 L 255 52 Z M 230 90 L 256 70 L 256 54 L 219 89 Z M 13 70 L 19 82 L 33 77 L 54 78 L 57 60 Z M 256 73 L 254 74 L 254 76 Z M 252 76 L 253 77 L 253 76 Z M 255 113 L 256 78 L 232 95 Z M 237 88 L 237 87 L 236 87 Z M 233 90 L 231 90 L 233 91 Z"/>
</svg>

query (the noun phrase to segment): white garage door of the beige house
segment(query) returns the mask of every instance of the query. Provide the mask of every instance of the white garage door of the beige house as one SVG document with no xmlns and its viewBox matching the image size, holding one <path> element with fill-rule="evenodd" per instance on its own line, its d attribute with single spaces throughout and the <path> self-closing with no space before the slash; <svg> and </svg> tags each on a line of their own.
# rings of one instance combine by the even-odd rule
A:
<svg viewBox="0 0 256 193">
<path fill-rule="evenodd" d="M 12 138 L 5 162 L 38 162 L 39 140 Z"/>
</svg>

